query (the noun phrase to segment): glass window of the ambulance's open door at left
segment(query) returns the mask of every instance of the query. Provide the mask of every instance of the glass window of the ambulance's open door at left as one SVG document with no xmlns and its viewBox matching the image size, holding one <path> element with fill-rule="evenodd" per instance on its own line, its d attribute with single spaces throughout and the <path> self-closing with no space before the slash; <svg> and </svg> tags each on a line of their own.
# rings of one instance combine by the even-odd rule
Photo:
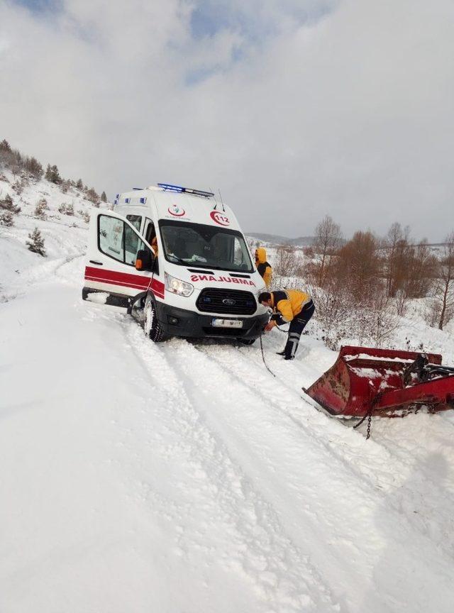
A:
<svg viewBox="0 0 454 613">
<path fill-rule="evenodd" d="M 109 258 L 129 266 L 135 265 L 138 250 L 145 249 L 145 244 L 130 226 L 107 215 L 98 218 L 98 246 Z"/>
</svg>

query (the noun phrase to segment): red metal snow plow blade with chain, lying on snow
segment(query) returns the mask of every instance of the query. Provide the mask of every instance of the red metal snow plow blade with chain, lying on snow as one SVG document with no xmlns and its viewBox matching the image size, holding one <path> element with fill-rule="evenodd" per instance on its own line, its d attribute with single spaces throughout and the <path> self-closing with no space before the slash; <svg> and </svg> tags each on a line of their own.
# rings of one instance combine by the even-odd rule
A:
<svg viewBox="0 0 454 613">
<path fill-rule="evenodd" d="M 345 346 L 304 392 L 332 415 L 435 413 L 454 409 L 454 368 L 436 353 Z"/>
</svg>

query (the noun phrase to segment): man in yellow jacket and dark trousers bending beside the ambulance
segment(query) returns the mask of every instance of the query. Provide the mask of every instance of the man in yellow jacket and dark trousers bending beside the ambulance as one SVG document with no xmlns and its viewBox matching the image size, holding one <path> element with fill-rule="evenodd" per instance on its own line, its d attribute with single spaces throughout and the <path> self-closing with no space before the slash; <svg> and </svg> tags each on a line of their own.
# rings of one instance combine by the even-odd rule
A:
<svg viewBox="0 0 454 613">
<path fill-rule="evenodd" d="M 265 326 L 267 332 L 275 326 L 290 324 L 287 344 L 278 355 L 283 355 L 284 360 L 293 360 L 301 333 L 314 315 L 315 306 L 310 295 L 299 292 L 298 289 L 284 289 L 280 292 L 262 292 L 258 302 L 273 311 L 270 321 Z"/>
</svg>

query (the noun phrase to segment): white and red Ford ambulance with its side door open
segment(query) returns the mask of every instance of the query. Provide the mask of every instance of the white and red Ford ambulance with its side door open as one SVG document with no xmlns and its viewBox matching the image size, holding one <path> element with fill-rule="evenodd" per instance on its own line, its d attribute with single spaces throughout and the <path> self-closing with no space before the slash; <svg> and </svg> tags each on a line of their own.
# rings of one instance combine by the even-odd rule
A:
<svg viewBox="0 0 454 613">
<path fill-rule="evenodd" d="M 265 289 L 236 217 L 210 192 L 158 183 L 92 211 L 82 297 L 143 309 L 155 342 L 253 343 L 268 320 Z"/>
</svg>

